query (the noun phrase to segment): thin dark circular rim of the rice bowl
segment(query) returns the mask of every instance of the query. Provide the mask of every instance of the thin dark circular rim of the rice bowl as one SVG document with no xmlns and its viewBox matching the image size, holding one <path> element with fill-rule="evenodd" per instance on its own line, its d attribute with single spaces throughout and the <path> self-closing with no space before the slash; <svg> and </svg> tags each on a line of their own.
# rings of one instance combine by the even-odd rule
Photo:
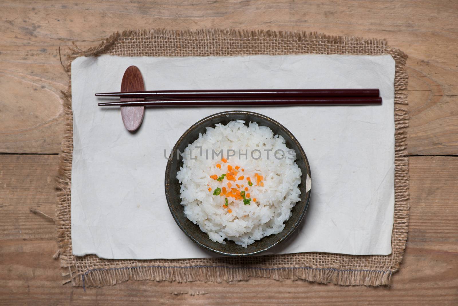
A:
<svg viewBox="0 0 458 306">
<path fill-rule="evenodd" d="M 294 135 L 286 128 L 284 127 L 282 124 L 280 124 L 278 121 L 276 120 L 273 120 L 272 118 L 270 117 L 267 117 L 266 115 L 262 115 L 262 114 L 259 114 L 259 113 L 255 113 L 255 112 L 250 112 L 250 111 L 245 111 L 245 110 L 229 110 L 229 111 L 224 111 L 224 112 L 221 112 L 221 113 L 216 113 L 216 114 L 213 114 L 213 115 L 209 115 L 199 121 L 197 121 L 195 124 L 193 124 L 190 128 L 188 128 L 184 133 L 183 135 L 181 135 L 181 137 L 178 139 L 178 141 L 175 143 L 172 151 L 170 154 L 172 154 L 171 156 L 173 156 L 174 152 L 176 152 L 177 148 L 180 146 L 181 142 L 183 141 L 183 139 L 189 134 L 191 133 L 191 131 L 193 131 L 194 129 L 196 129 L 197 127 L 201 126 L 202 124 L 204 124 L 205 122 L 207 122 L 208 120 L 211 120 L 213 118 L 219 118 L 219 117 L 223 117 L 225 115 L 252 115 L 254 117 L 261 117 L 262 119 L 264 120 L 268 120 L 268 121 L 271 121 L 274 125 L 278 126 L 281 130 L 283 130 L 288 136 L 289 138 L 291 139 L 291 141 L 293 141 L 296 146 L 299 148 L 300 150 L 300 155 L 302 156 L 302 158 L 304 158 L 304 163 L 305 163 L 305 168 L 307 169 L 307 173 L 306 175 L 308 174 L 309 177 L 311 178 L 311 172 L 310 172 L 310 165 L 309 165 L 309 161 L 307 159 L 307 156 L 305 155 L 305 152 L 304 152 L 304 149 L 302 148 L 302 146 L 300 145 L 299 141 L 296 139 L 296 137 L 294 137 Z M 275 131 L 274 131 L 275 133 Z M 311 195 L 311 190 L 307 191 L 307 198 L 304 199 L 306 202 L 305 202 L 305 206 L 304 206 L 304 209 L 302 210 L 302 212 L 300 213 L 300 217 L 299 219 L 296 221 L 296 223 L 293 225 L 293 227 L 286 233 L 284 234 L 280 239 L 278 239 L 275 243 L 273 243 L 272 245 L 270 246 L 267 246 L 265 248 L 263 248 L 262 250 L 259 250 L 259 251 L 254 251 L 254 252 L 251 252 L 251 253 L 245 253 L 245 254 L 233 254 L 233 253 L 226 253 L 226 252 L 223 252 L 223 251 L 218 251 L 218 250 L 215 250 L 213 249 L 212 247 L 210 246 L 207 246 L 205 244 L 202 244 L 200 241 L 196 240 L 190 233 L 188 233 L 187 230 L 185 230 L 183 228 L 183 226 L 181 225 L 180 221 L 178 220 L 177 216 L 175 215 L 173 209 L 172 209 L 172 205 L 170 203 L 170 197 L 169 197 L 169 188 L 170 188 L 170 160 L 167 161 L 167 166 L 165 168 L 165 181 L 164 181 L 164 186 L 165 186 L 165 197 L 167 199 L 167 204 L 169 206 L 169 210 L 170 210 L 170 213 L 172 214 L 176 224 L 178 224 L 178 226 L 180 227 L 181 231 L 183 233 L 186 234 L 186 236 L 188 236 L 192 241 L 194 241 L 198 246 L 201 246 L 202 248 L 206 249 L 206 250 L 209 250 L 209 251 L 213 251 L 217 254 L 220 254 L 220 255 L 224 255 L 224 256 L 231 256 L 231 257 L 245 257 L 245 256 L 252 256 L 252 255 L 256 255 L 256 254 L 259 254 L 263 251 L 267 251 L 268 249 L 272 248 L 273 246 L 277 246 L 279 243 L 283 242 L 284 240 L 286 240 L 289 235 L 291 235 L 294 230 L 296 230 L 296 228 L 298 227 L 298 225 L 300 224 L 300 222 L 302 221 L 302 219 L 304 218 L 304 215 L 305 215 L 305 212 L 309 206 L 309 201 L 310 201 L 310 195 Z M 305 177 L 304 175 L 302 175 L 303 179 L 305 180 Z M 304 201 L 303 199 L 301 199 L 300 201 Z M 280 232 L 282 233 L 282 232 Z M 280 233 L 276 234 L 276 235 L 279 235 Z"/>
</svg>

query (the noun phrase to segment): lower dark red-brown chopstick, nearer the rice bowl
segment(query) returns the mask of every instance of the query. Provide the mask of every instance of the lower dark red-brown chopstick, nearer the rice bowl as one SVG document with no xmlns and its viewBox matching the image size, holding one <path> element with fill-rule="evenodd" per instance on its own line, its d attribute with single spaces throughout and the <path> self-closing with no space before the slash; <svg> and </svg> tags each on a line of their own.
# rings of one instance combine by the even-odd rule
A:
<svg viewBox="0 0 458 306">
<path fill-rule="evenodd" d="M 99 103 L 98 106 L 294 106 L 381 105 L 381 97 L 182 98 Z"/>
</svg>

